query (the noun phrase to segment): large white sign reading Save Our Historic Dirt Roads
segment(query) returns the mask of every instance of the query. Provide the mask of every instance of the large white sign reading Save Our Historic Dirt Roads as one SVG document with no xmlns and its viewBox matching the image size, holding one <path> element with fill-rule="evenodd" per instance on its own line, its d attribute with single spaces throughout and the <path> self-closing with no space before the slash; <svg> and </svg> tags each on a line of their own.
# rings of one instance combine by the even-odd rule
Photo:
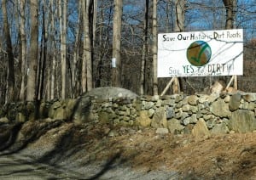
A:
<svg viewBox="0 0 256 180">
<path fill-rule="evenodd" d="M 243 31 L 158 35 L 158 77 L 230 76 L 243 73 Z"/>
</svg>

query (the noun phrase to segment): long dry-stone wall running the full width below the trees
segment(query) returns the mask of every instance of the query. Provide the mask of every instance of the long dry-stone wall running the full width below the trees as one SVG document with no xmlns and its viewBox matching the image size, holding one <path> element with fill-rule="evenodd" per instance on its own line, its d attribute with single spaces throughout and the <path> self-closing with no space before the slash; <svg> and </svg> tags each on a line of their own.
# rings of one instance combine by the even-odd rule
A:
<svg viewBox="0 0 256 180">
<path fill-rule="evenodd" d="M 256 93 L 142 96 L 8 104 L 0 123 L 38 118 L 64 119 L 113 126 L 154 127 L 164 132 L 218 133 L 256 131 Z"/>
</svg>

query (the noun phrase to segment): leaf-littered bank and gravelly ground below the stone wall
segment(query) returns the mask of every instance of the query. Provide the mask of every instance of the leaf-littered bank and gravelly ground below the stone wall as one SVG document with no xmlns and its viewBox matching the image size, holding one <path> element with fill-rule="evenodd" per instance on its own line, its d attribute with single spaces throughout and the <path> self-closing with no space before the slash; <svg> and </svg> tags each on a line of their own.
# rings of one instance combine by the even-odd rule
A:
<svg viewBox="0 0 256 180">
<path fill-rule="evenodd" d="M 38 178 L 31 179 L 256 179 L 255 132 L 194 138 L 158 134 L 155 129 L 77 126 L 70 122 L 54 129 L 18 153 L 1 155 L 0 178 L 30 179 L 27 177 L 38 171 Z M 71 129 L 72 136 L 65 132 Z M 57 142 L 62 132 L 66 135 Z M 43 155 L 44 147 L 50 153 Z M 26 159 L 34 152 L 41 155 L 40 160 Z M 22 164 L 10 160 L 14 155 L 26 161 L 25 169 L 12 169 L 14 164 Z"/>
</svg>

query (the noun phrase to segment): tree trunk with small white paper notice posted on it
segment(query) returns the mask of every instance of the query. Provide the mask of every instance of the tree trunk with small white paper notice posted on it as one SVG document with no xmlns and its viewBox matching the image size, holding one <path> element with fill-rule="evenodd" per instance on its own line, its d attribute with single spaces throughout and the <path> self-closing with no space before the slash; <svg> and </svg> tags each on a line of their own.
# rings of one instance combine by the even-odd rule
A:
<svg viewBox="0 0 256 180">
<path fill-rule="evenodd" d="M 112 86 L 121 87 L 121 27 L 123 14 L 123 0 L 114 0 L 113 2 L 113 61 L 115 67 L 112 67 Z"/>
</svg>

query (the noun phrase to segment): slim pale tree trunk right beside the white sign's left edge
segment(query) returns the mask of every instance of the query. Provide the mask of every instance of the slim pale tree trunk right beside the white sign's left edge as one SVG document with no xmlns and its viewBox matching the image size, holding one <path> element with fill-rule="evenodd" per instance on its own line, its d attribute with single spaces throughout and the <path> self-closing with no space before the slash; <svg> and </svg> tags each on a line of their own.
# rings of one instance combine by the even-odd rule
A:
<svg viewBox="0 0 256 180">
<path fill-rule="evenodd" d="M 153 93 L 158 94 L 157 82 L 157 0 L 153 0 L 153 22 L 152 22 L 152 36 L 153 36 Z"/>
</svg>

